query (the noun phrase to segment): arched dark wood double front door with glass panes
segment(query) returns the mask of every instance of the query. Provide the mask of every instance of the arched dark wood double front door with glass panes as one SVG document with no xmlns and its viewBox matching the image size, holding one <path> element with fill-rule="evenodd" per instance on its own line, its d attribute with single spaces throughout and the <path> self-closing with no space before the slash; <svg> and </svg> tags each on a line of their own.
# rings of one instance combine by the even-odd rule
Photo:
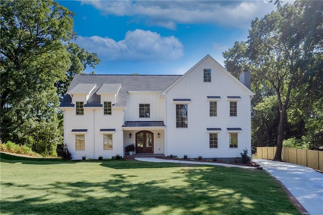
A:
<svg viewBox="0 0 323 215">
<path fill-rule="evenodd" d="M 139 131 L 136 133 L 136 153 L 153 153 L 153 133 Z"/>
</svg>

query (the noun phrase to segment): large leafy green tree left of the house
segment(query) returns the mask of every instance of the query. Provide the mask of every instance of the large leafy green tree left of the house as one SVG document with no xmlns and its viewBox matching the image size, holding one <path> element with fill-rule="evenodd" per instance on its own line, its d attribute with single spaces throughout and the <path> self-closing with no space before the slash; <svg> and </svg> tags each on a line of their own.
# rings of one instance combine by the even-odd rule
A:
<svg viewBox="0 0 323 215">
<path fill-rule="evenodd" d="M 55 83 L 71 65 L 65 43 L 74 14 L 57 2 L 1 1 L 1 137 L 55 154 L 60 141 Z"/>
</svg>

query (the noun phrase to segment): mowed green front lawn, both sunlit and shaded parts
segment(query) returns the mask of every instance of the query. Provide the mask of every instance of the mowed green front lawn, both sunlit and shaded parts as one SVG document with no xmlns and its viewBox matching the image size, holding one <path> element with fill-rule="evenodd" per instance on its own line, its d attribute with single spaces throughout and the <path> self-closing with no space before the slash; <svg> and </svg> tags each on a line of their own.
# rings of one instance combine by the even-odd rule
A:
<svg viewBox="0 0 323 215">
<path fill-rule="evenodd" d="M 1 214 L 299 214 L 264 171 L 1 154 Z"/>
</svg>

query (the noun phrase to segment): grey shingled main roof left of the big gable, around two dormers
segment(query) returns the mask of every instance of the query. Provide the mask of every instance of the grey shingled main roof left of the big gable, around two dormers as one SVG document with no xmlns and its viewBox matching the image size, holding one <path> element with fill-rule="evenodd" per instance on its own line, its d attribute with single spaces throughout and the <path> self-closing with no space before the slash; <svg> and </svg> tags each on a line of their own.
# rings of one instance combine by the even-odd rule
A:
<svg viewBox="0 0 323 215">
<path fill-rule="evenodd" d="M 96 84 L 84 106 L 100 106 L 100 96 L 96 92 L 102 84 L 121 84 L 115 106 L 126 106 L 128 91 L 163 92 L 181 75 L 75 75 L 67 90 L 69 93 L 78 84 Z M 94 85 L 93 85 L 94 86 Z M 111 85 L 113 86 L 113 85 Z M 70 95 L 65 95 L 61 107 L 71 106 Z"/>
</svg>

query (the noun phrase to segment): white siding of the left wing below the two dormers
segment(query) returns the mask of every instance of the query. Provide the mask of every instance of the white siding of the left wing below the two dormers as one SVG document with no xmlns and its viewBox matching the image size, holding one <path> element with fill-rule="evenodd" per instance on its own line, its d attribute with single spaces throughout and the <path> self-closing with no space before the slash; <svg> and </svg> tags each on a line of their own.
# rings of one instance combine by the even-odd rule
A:
<svg viewBox="0 0 323 215">
<path fill-rule="evenodd" d="M 84 115 L 76 115 L 75 108 L 64 109 L 64 142 L 67 144 L 73 159 L 111 158 L 123 154 L 123 110 L 113 108 L 112 115 L 103 115 L 103 108 L 84 108 Z M 85 150 L 76 150 L 73 129 L 87 129 L 85 134 Z M 103 150 L 103 134 L 100 129 L 116 129 L 113 133 L 113 150 Z"/>
</svg>

